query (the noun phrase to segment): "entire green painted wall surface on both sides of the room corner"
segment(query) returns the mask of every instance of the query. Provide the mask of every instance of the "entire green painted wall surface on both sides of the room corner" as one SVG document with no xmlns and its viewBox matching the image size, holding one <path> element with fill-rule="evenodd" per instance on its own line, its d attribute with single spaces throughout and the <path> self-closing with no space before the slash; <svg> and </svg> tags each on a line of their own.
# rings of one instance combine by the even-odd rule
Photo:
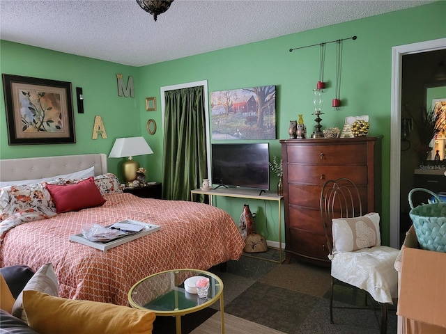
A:
<svg viewBox="0 0 446 334">
<path fill-rule="evenodd" d="M 105 152 L 108 154 L 113 139 L 120 136 L 142 134 L 153 148 L 154 154 L 140 157 L 148 166 L 152 180 L 161 180 L 162 116 L 160 87 L 207 80 L 208 91 L 277 86 L 277 138 L 288 137 L 289 120 L 302 113 L 308 132 L 313 131 L 312 89 L 318 81 L 318 47 L 289 52 L 290 48 L 314 45 L 321 42 L 349 38 L 344 41 L 341 75 L 343 107 L 334 111 L 335 49 L 336 43 L 327 45 L 325 55 L 325 104 L 323 127 L 342 127 L 346 116 L 369 115 L 371 135 L 383 135 L 383 243 L 389 242 L 390 201 L 390 100 L 392 47 L 424 40 L 446 37 L 444 24 L 446 1 L 397 12 L 368 17 L 343 24 L 314 29 L 280 38 L 256 42 L 240 47 L 222 49 L 197 56 L 167 61 L 144 67 L 130 67 L 97 61 L 90 58 L 61 54 L 45 49 L 1 41 L 0 66 L 2 73 L 26 75 L 71 81 L 84 88 L 85 113 L 75 113 L 77 143 L 71 145 L 8 146 L 3 96 L 0 111 L 0 157 L 31 157 L 59 154 Z M 440 23 L 439 23 L 440 22 Z M 197 37 L 199 38 L 199 37 Z M 135 98 L 118 97 L 116 73 L 124 78 L 134 77 Z M 146 111 L 146 97 L 157 97 L 157 111 Z M 76 102 L 75 104 L 75 111 Z M 91 132 L 95 115 L 102 116 L 108 139 L 93 141 Z M 146 122 L 153 118 L 157 132 L 150 136 Z M 278 139 L 270 141 L 270 154 L 280 155 Z M 116 172 L 116 159 L 109 159 L 110 170 Z M 271 189 L 277 178 L 272 176 Z M 243 202 L 220 200 L 219 206 L 230 212 L 236 220 Z M 277 241 L 277 209 L 268 203 L 249 202 L 256 220 L 266 232 L 262 212 L 268 212 L 268 239 Z M 266 209 L 265 209 L 266 208 Z"/>
</svg>

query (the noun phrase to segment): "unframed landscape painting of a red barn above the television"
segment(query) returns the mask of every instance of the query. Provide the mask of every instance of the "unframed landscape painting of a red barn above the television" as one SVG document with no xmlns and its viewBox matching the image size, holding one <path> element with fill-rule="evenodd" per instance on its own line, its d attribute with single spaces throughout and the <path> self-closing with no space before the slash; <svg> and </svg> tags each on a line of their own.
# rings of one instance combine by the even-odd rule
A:
<svg viewBox="0 0 446 334">
<path fill-rule="evenodd" d="M 276 139 L 276 86 L 210 93 L 212 138 Z"/>
</svg>

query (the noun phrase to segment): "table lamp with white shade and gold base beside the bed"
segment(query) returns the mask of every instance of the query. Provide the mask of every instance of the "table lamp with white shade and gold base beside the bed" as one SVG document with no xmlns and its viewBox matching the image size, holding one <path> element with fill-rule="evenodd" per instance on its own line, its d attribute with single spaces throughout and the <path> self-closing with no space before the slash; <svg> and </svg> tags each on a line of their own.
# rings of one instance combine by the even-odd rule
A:
<svg viewBox="0 0 446 334">
<path fill-rule="evenodd" d="M 143 137 L 116 138 L 109 158 L 128 157 L 122 164 L 122 172 L 125 182 L 132 182 L 136 180 L 139 168 L 139 162 L 132 157 L 152 153 L 153 150 Z"/>
</svg>

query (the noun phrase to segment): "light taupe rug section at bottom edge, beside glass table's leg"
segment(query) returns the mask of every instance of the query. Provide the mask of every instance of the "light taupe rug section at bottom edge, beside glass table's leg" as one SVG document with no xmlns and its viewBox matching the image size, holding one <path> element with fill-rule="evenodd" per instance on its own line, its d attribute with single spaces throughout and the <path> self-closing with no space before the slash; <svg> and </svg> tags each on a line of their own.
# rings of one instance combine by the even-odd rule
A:
<svg viewBox="0 0 446 334">
<path fill-rule="evenodd" d="M 221 333 L 220 312 L 203 322 L 191 334 Z M 227 313 L 224 314 L 224 333 L 226 334 L 284 334 L 275 329 L 256 324 L 252 321 L 238 318 Z"/>
</svg>

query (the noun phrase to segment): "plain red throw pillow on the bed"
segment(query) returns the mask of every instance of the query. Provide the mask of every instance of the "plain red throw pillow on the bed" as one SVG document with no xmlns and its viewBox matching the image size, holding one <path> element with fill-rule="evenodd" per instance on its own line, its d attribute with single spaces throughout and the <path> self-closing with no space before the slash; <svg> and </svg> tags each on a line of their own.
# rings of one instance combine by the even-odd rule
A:
<svg viewBox="0 0 446 334">
<path fill-rule="evenodd" d="M 98 207 L 106 202 L 95 184 L 94 177 L 89 177 L 77 184 L 64 186 L 47 184 L 46 187 L 54 200 L 58 214 L 87 207 Z"/>
</svg>

